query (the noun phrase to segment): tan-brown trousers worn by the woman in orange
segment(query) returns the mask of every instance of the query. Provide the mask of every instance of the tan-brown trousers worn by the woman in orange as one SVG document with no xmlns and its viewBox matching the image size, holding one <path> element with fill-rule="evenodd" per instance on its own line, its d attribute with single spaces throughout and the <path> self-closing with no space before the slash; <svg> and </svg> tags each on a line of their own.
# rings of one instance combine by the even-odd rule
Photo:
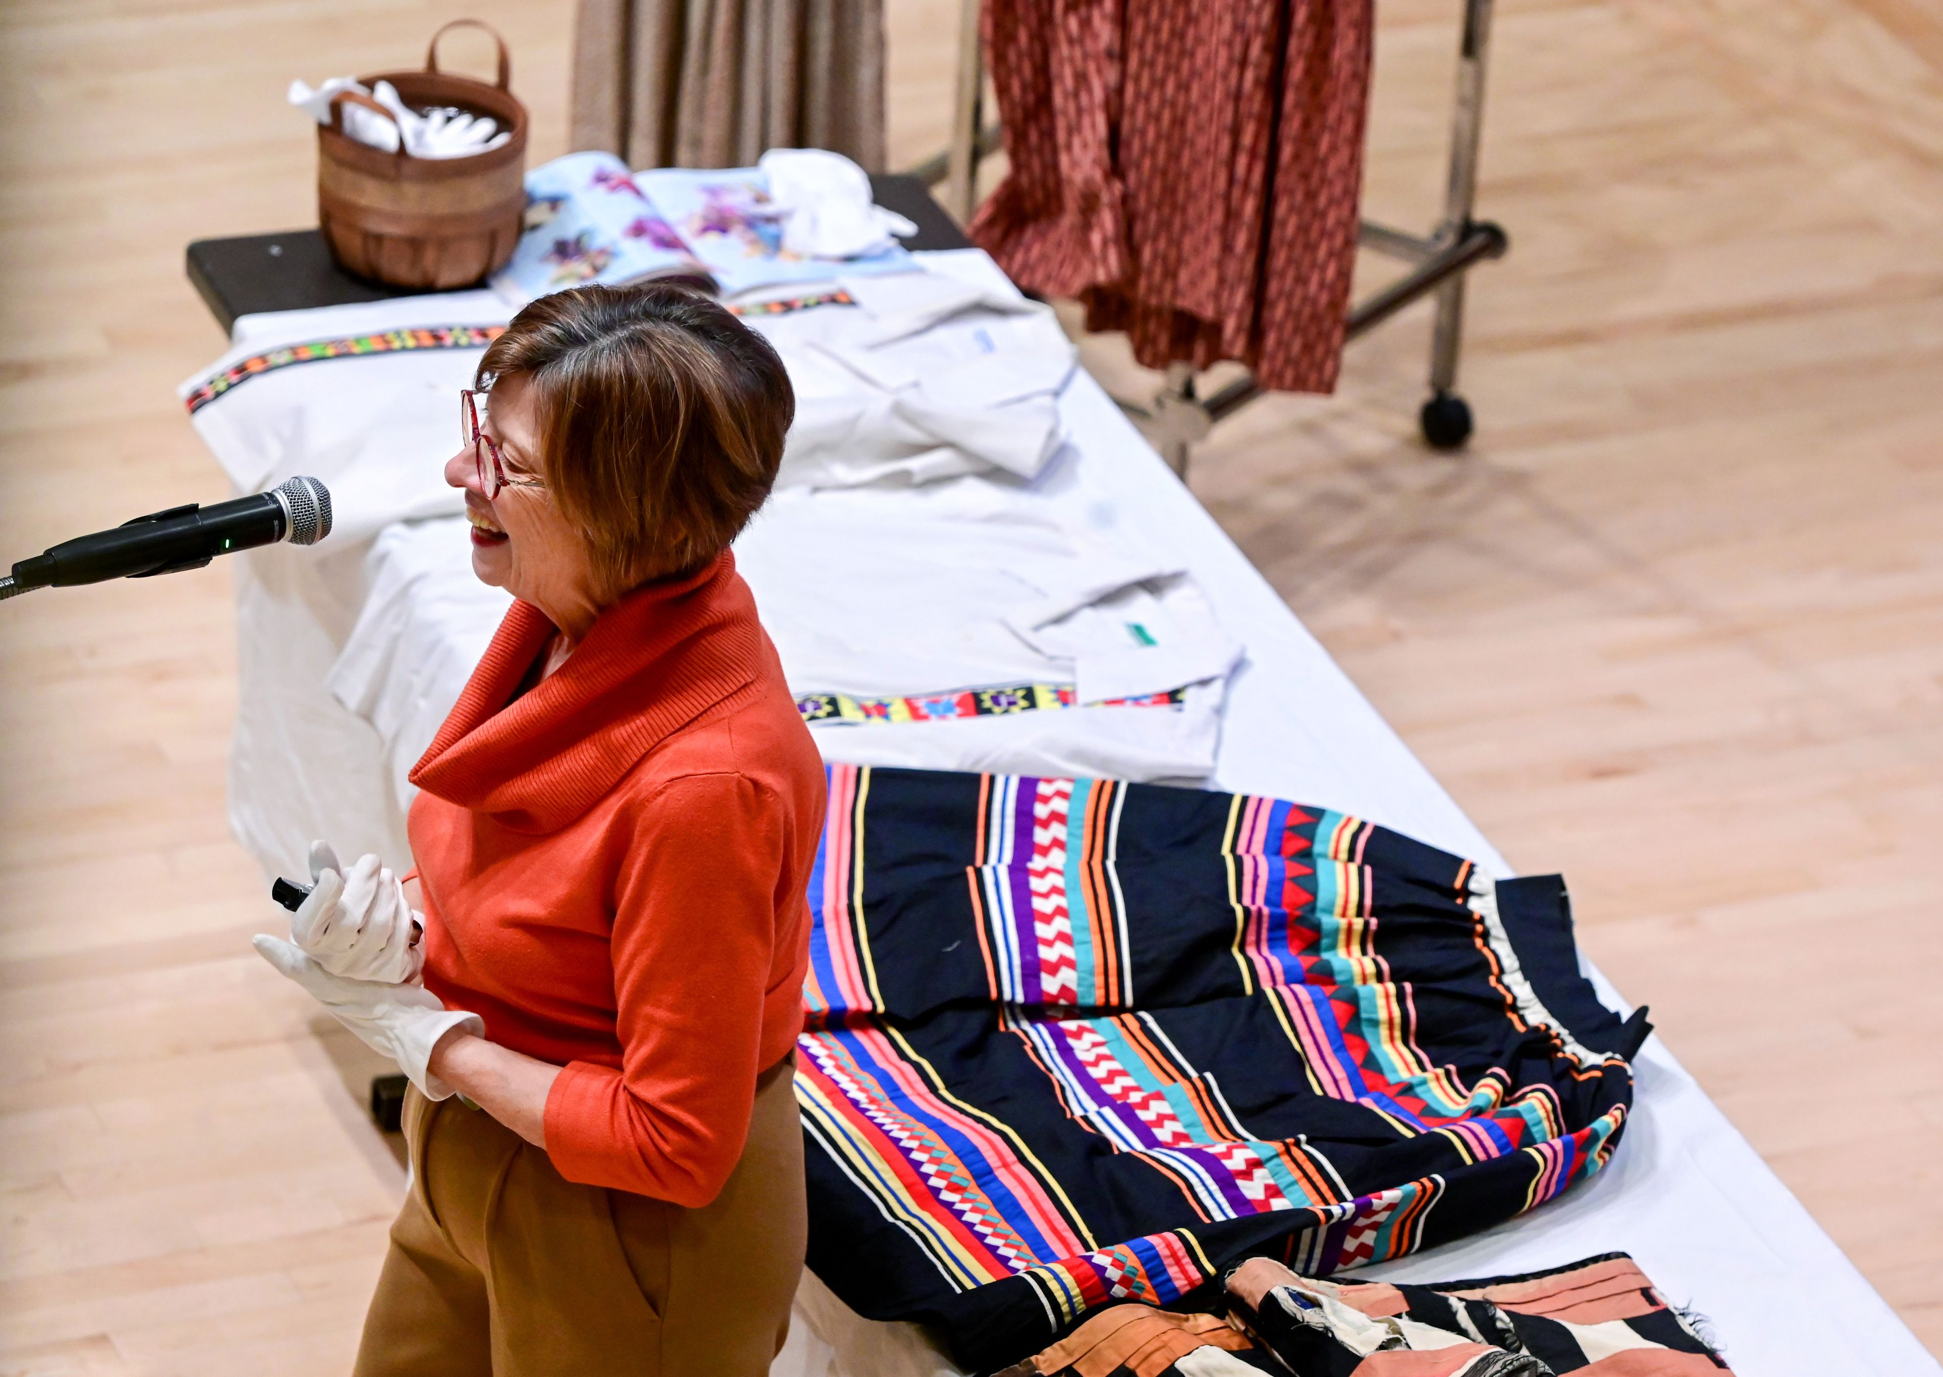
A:
<svg viewBox="0 0 1943 1377">
<path fill-rule="evenodd" d="M 762 1377 L 802 1272 L 795 1058 L 756 1082 L 748 1146 L 713 1204 L 565 1181 L 459 1099 L 404 1101 L 412 1192 L 356 1377 Z"/>
</svg>

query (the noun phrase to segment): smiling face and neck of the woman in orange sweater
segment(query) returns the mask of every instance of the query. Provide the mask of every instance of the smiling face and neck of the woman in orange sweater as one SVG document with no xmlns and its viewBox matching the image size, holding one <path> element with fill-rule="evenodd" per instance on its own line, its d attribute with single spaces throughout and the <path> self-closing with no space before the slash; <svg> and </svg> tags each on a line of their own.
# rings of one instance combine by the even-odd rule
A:
<svg viewBox="0 0 1943 1377">
<path fill-rule="evenodd" d="M 445 482 L 466 493 L 472 522 L 472 573 L 540 608 L 577 641 L 600 614 L 597 579 L 581 534 L 567 522 L 540 478 L 538 425 L 527 379 L 509 375 L 492 388 L 480 429 L 499 447 L 505 476 L 515 480 L 492 499 L 480 486 L 472 447 L 445 460 Z M 492 454 L 486 454 L 488 472 Z"/>
</svg>

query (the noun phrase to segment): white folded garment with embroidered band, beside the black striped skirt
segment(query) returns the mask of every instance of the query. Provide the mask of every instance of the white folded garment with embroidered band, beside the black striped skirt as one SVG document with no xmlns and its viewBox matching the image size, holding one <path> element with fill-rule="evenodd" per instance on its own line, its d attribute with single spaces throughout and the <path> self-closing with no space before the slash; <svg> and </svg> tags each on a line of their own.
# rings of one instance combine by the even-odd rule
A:
<svg viewBox="0 0 1943 1377">
<path fill-rule="evenodd" d="M 736 565 L 791 691 L 828 713 L 812 721 L 828 759 L 1119 779 L 1214 765 L 1242 647 L 1177 565 L 1032 491 L 785 491 Z"/>
</svg>

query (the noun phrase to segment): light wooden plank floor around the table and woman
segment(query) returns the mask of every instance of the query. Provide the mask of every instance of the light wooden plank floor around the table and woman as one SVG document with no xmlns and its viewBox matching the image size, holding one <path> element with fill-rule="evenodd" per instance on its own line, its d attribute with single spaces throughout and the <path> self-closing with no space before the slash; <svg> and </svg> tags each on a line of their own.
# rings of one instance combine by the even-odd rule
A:
<svg viewBox="0 0 1943 1377">
<path fill-rule="evenodd" d="M 894 150 L 950 0 L 892 0 Z M 223 480 L 198 235 L 309 223 L 291 76 L 476 12 L 563 150 L 567 0 L 0 6 L 0 561 Z M 1387 0 L 1370 206 L 1428 225 L 1451 0 Z M 1943 12 L 1500 0 L 1465 460 L 1426 328 L 1193 486 L 1943 1352 Z M 1131 388 L 1113 342 L 1088 346 Z M 400 1171 L 247 948 L 218 571 L 0 608 L 0 1375 L 344 1371 Z M 1807 1278 L 1805 1278 L 1807 1280 Z M 1704 1297 L 1694 1297 L 1704 1309 Z"/>
</svg>

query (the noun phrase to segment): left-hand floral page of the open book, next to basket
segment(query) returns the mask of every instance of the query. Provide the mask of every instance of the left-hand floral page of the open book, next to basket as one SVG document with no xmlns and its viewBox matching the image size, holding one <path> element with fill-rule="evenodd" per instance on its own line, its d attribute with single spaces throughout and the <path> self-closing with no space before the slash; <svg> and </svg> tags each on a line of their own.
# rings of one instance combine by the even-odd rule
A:
<svg viewBox="0 0 1943 1377">
<path fill-rule="evenodd" d="M 492 285 L 513 305 L 587 282 L 715 278 L 614 153 L 567 153 L 527 173 L 527 229 Z"/>
</svg>

